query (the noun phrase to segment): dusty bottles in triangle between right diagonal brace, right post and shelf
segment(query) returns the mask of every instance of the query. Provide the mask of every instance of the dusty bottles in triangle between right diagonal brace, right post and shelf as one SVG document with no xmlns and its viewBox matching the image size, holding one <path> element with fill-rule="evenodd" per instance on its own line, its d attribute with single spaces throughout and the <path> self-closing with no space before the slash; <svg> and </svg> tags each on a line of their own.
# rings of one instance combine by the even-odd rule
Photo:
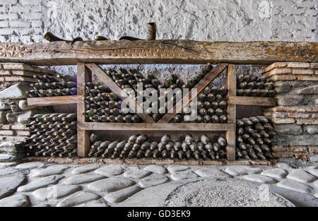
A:
<svg viewBox="0 0 318 221">
<path fill-rule="evenodd" d="M 199 93 L 196 109 L 192 109 L 192 102 L 182 109 L 181 114 L 175 115 L 174 123 L 226 123 L 228 102 L 226 96 L 228 90 L 225 87 L 207 86 Z"/>
</svg>

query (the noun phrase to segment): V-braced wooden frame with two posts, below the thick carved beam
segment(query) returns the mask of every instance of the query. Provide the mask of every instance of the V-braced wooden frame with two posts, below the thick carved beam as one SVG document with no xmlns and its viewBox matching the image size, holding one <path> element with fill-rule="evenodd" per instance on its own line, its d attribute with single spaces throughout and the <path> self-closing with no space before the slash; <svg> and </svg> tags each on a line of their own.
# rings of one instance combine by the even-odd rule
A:
<svg viewBox="0 0 318 221">
<path fill-rule="evenodd" d="M 226 131 L 226 134 L 228 136 L 229 132 L 231 131 L 235 135 L 235 120 L 234 123 L 232 124 L 191 124 L 191 123 L 169 123 L 173 117 L 175 117 L 175 114 L 177 112 L 181 111 L 182 108 L 187 105 L 189 102 L 191 102 L 194 97 L 196 97 L 199 92 L 204 90 L 207 85 L 209 85 L 220 73 L 222 73 L 225 68 L 228 67 L 229 64 L 218 64 L 216 65 L 209 73 L 204 76 L 203 79 L 197 83 L 194 88 L 196 88 L 196 93 L 192 94 L 191 90 L 189 91 L 189 94 L 187 96 L 182 97 L 182 105 L 181 109 L 177 109 L 178 105 L 176 104 L 175 107 L 173 107 L 174 112 L 173 113 L 167 113 L 163 116 L 158 123 L 155 123 L 153 119 L 146 113 L 141 113 L 139 116 L 143 119 L 145 123 L 139 123 L 139 124 L 128 124 L 128 123 L 93 123 L 93 122 L 86 122 L 85 118 L 84 120 L 81 119 L 81 121 L 78 121 L 78 131 Z M 83 66 L 85 66 L 83 68 Z M 234 66 L 234 65 L 232 65 Z M 95 76 L 98 78 L 98 80 L 102 81 L 102 83 L 105 83 L 112 92 L 117 94 L 119 97 L 121 97 L 122 100 L 126 100 L 129 102 L 131 98 L 126 95 L 126 93 L 122 90 L 122 88 L 119 88 L 119 86 L 114 83 L 112 78 L 110 78 L 105 71 L 100 68 L 97 64 L 78 64 L 78 75 L 86 75 L 86 69 L 90 71 L 91 74 L 95 74 Z M 235 66 L 234 66 L 235 68 Z M 86 70 L 86 71 L 83 71 Z M 235 76 L 234 74 L 232 76 Z M 91 76 L 90 76 L 91 77 Z M 81 81 L 84 80 L 84 82 L 87 82 L 88 78 L 78 78 L 81 79 Z M 235 76 L 236 80 L 236 76 Z M 79 80 L 78 80 L 79 82 Z M 235 81 L 236 83 L 236 81 Z M 81 83 L 81 85 L 84 85 L 85 83 Z M 229 87 L 228 87 L 229 88 Z M 235 87 L 236 88 L 236 87 Z M 80 91 L 80 90 L 78 90 Z M 232 90 L 231 90 L 232 91 Z M 236 92 L 236 89 L 235 89 Z M 85 92 L 81 95 L 85 95 Z M 235 94 L 233 94 L 235 95 Z M 135 106 L 136 106 L 135 102 Z M 81 107 L 82 108 L 82 107 Z M 79 110 L 79 109 L 78 109 Z M 85 113 L 85 107 L 83 107 L 82 113 Z M 230 114 L 230 118 L 235 119 L 235 115 L 232 115 L 233 112 Z M 234 112 L 235 113 L 235 112 Z M 80 114 L 78 112 L 78 114 Z M 82 142 L 80 145 L 78 144 L 78 156 L 83 157 L 83 155 L 88 154 L 87 150 L 87 141 L 88 139 L 88 134 L 83 134 L 82 137 L 78 139 L 78 142 Z M 80 141 L 81 139 L 81 141 Z M 230 147 L 230 148 L 229 148 Z M 234 149 L 234 158 L 232 157 L 233 155 L 233 150 Z M 81 151 L 81 152 L 80 152 Z M 235 160 L 235 143 L 234 143 L 234 148 L 232 143 L 228 144 L 227 151 L 232 151 L 231 154 L 227 155 L 228 160 Z"/>
</svg>

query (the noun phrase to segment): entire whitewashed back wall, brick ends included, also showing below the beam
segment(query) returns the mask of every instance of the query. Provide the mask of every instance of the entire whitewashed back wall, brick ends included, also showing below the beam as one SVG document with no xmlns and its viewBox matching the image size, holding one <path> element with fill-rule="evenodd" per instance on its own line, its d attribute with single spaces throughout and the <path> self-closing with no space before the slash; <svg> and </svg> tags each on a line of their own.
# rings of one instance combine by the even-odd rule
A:
<svg viewBox="0 0 318 221">
<path fill-rule="evenodd" d="M 317 0 L 0 0 L 0 41 L 42 42 L 47 31 L 66 39 L 146 38 L 146 23 L 155 22 L 157 39 L 317 42 L 317 4 Z M 74 66 L 53 68 L 76 73 Z M 164 77 L 170 72 L 186 76 L 199 67 L 140 68 Z M 246 70 L 254 72 L 249 66 Z"/>
</svg>

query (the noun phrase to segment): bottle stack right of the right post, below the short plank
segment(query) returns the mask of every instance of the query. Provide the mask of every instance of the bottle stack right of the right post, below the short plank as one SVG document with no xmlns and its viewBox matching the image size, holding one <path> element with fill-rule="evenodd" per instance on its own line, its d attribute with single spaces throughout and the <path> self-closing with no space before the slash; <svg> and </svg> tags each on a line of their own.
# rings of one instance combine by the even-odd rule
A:
<svg viewBox="0 0 318 221">
<path fill-rule="evenodd" d="M 236 121 L 237 159 L 271 159 L 271 139 L 276 131 L 266 117 L 249 117 Z"/>
</svg>

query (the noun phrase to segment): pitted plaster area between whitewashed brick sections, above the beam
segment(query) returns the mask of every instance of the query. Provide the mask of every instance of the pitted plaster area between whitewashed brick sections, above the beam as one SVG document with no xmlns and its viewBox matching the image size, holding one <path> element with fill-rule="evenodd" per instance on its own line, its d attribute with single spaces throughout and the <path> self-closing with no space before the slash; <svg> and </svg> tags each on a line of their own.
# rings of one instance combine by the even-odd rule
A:
<svg viewBox="0 0 318 221">
<path fill-rule="evenodd" d="M 45 30 L 66 38 L 142 38 L 146 37 L 146 23 L 154 21 L 158 39 L 270 40 L 269 1 L 253 2 L 44 0 L 42 6 Z"/>
</svg>

